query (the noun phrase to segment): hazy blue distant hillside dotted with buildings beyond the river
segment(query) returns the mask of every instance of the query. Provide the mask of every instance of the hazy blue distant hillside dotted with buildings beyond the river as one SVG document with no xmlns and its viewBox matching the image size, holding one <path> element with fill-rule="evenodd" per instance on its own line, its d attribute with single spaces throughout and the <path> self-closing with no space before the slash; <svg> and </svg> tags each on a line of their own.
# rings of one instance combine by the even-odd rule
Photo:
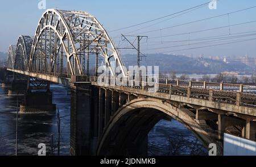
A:
<svg viewBox="0 0 256 167">
<path fill-rule="evenodd" d="M 137 64 L 137 55 L 123 55 L 126 66 Z M 147 55 L 142 58 L 141 65 L 158 65 L 160 72 L 176 72 L 185 74 L 216 74 L 224 71 L 234 71 L 240 74 L 252 73 L 254 69 L 241 62 L 230 62 L 210 59 L 194 59 L 183 55 L 164 55 L 161 53 Z"/>
</svg>

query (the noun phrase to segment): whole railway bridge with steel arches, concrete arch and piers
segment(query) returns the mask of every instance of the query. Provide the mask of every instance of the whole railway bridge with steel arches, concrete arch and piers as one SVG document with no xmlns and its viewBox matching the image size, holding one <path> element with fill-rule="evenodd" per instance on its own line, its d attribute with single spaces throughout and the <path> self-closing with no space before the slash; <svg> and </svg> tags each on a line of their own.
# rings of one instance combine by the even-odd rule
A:
<svg viewBox="0 0 256 167">
<path fill-rule="evenodd" d="M 6 81 L 10 94 L 25 96 L 21 112 L 54 111 L 50 83 L 71 87 L 72 155 L 147 155 L 147 134 L 161 119 L 183 123 L 218 155 L 224 133 L 255 141 L 256 86 L 150 79 L 127 73 L 105 28 L 84 11 L 47 10 L 34 36 L 9 47 Z"/>
</svg>

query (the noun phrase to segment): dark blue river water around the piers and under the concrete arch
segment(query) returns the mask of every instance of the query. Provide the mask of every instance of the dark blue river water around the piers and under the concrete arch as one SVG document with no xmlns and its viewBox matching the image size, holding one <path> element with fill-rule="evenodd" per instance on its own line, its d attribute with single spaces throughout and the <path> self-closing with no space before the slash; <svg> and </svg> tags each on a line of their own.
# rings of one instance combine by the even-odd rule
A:
<svg viewBox="0 0 256 167">
<path fill-rule="evenodd" d="M 44 143 L 47 155 L 69 154 L 70 95 L 69 88 L 51 85 L 53 103 L 60 114 L 58 137 L 57 112 L 18 113 L 18 155 L 38 155 L 38 144 Z M 7 95 L 8 87 L 0 87 L 0 155 L 15 155 L 16 106 L 22 95 Z M 148 133 L 148 155 L 207 155 L 207 149 L 176 120 L 160 120 Z"/>
</svg>

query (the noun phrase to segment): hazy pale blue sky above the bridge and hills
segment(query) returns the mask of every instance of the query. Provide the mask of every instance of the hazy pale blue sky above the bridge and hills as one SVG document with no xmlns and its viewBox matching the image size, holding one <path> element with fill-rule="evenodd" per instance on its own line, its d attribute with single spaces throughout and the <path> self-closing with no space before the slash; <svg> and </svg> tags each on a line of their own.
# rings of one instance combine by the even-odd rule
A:
<svg viewBox="0 0 256 167">
<path fill-rule="evenodd" d="M 159 18 L 164 15 L 172 14 L 177 11 L 189 9 L 197 5 L 201 5 L 209 0 L 127 0 L 127 1 L 67 1 L 67 0 L 46 0 L 47 9 L 65 9 L 65 10 L 82 10 L 97 17 L 104 25 L 106 30 L 112 31 L 118 28 L 131 26 L 133 24 L 145 22 L 147 20 Z M 1 1 L 0 5 L 0 51 L 7 52 L 9 44 L 16 44 L 19 35 L 34 36 L 38 20 L 45 10 L 38 9 L 37 0 Z M 118 37 L 121 33 L 125 35 L 147 35 L 146 39 L 141 41 L 141 49 L 144 53 L 172 53 L 185 55 L 205 55 L 205 56 L 232 56 L 232 55 L 249 55 L 256 56 L 256 22 L 242 24 L 239 26 L 230 26 L 256 20 L 256 8 L 236 12 L 234 14 L 224 15 L 221 17 L 207 19 L 201 22 L 186 24 L 173 28 L 164 29 L 165 27 L 176 26 L 178 24 L 193 22 L 195 20 L 209 18 L 211 16 L 226 14 L 236 10 L 246 9 L 256 6 L 255 0 L 235 1 L 235 0 L 219 0 L 217 9 L 210 10 L 208 6 L 188 12 L 176 18 L 169 16 L 155 22 L 143 24 L 141 26 L 128 28 L 121 31 L 110 32 L 110 36 L 114 37 L 115 44 L 126 46 L 126 42 L 122 42 Z M 171 19 L 172 18 L 172 19 Z M 168 20 L 166 20 L 168 19 Z M 162 20 L 165 20 L 162 23 Z M 157 23 L 157 24 L 156 24 Z M 154 24 L 152 26 L 152 24 Z M 149 27 L 147 27 L 149 26 Z M 206 30 L 222 26 L 230 26 L 212 31 L 203 31 L 200 33 L 192 33 L 195 31 Z M 147 28 L 143 28 L 147 27 Z M 142 29 L 143 28 L 143 29 Z M 162 28 L 163 30 L 158 30 Z M 141 29 L 141 30 L 138 30 Z M 137 30 L 137 31 L 134 31 Z M 151 30 L 158 30 L 148 32 Z M 134 31 L 134 32 L 132 32 Z M 255 31 L 255 32 L 252 32 Z M 131 33 L 129 33 L 131 32 Z M 241 34 L 245 32 L 244 34 Z M 229 35 L 230 33 L 230 35 Z M 184 34 L 177 36 L 175 34 Z M 222 35 L 222 36 L 220 36 Z M 220 37 L 224 35 L 230 36 L 230 39 L 220 41 Z M 243 37 L 241 35 L 244 35 Z M 217 36 L 217 38 L 216 38 Z M 240 37 L 238 37 L 240 36 Z M 210 37 L 210 40 L 197 40 L 203 37 Z M 217 40 L 216 40 L 217 39 Z M 130 40 L 134 40 L 130 38 Z M 180 42 L 183 41 L 183 42 Z M 233 43 L 241 40 L 242 43 Z M 172 43 L 165 43 L 172 41 Z M 197 44 L 194 44 L 197 43 Z M 221 43 L 233 43 L 227 45 L 218 45 L 214 47 L 204 47 L 207 45 L 216 45 Z M 168 48 L 166 48 L 168 47 Z M 177 51 L 181 50 L 181 51 Z M 130 53 L 132 51 L 121 51 L 121 53 Z M 135 53 L 135 52 L 134 52 Z"/>
</svg>

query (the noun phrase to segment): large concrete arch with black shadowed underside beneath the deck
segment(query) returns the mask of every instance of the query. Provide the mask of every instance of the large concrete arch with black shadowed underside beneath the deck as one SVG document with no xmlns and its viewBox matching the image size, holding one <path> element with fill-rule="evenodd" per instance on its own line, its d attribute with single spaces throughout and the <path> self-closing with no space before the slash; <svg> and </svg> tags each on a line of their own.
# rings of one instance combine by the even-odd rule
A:
<svg viewBox="0 0 256 167">
<path fill-rule="evenodd" d="M 154 98 L 138 98 L 123 105 L 109 121 L 97 146 L 97 155 L 143 155 L 143 141 L 148 132 L 165 116 L 169 115 L 191 130 L 205 147 L 216 143 L 217 154 L 222 145 L 213 139 L 187 109 L 177 108 L 167 101 Z"/>
</svg>

